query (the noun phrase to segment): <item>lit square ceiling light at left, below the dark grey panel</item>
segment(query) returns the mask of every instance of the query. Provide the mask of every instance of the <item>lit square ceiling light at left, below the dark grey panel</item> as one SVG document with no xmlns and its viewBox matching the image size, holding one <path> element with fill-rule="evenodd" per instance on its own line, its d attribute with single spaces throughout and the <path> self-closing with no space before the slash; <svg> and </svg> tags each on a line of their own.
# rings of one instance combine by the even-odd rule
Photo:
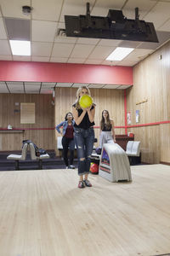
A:
<svg viewBox="0 0 170 256">
<path fill-rule="evenodd" d="M 31 55 L 30 41 L 9 40 L 13 55 Z"/>
</svg>

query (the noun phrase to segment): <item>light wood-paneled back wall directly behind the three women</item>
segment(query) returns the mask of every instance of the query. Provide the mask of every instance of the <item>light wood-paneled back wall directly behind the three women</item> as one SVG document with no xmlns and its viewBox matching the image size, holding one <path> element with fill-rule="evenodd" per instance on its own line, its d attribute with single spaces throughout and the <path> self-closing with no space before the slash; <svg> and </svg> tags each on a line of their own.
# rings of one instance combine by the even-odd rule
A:
<svg viewBox="0 0 170 256">
<path fill-rule="evenodd" d="M 95 126 L 99 126 L 101 113 L 107 109 L 116 126 L 124 125 L 124 91 L 110 89 L 90 89 L 91 95 L 96 104 Z M 72 112 L 72 104 L 76 101 L 77 88 L 56 88 L 55 89 L 55 125 L 65 119 L 65 113 Z M 95 137 L 98 138 L 99 128 L 95 130 Z M 125 129 L 116 129 L 116 134 L 124 134 Z M 55 140 L 59 133 L 55 132 Z M 56 143 L 56 141 L 55 141 Z"/>
</svg>

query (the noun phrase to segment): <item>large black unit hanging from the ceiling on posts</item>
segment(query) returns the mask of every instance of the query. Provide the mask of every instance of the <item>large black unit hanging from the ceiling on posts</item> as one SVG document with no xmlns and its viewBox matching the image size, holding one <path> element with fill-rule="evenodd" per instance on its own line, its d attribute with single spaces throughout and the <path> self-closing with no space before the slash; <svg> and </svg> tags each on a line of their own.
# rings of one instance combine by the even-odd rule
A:
<svg viewBox="0 0 170 256">
<path fill-rule="evenodd" d="M 116 9 L 109 9 L 106 17 L 91 16 L 89 3 L 86 15 L 65 15 L 65 33 L 77 38 L 159 42 L 153 23 L 139 20 L 139 8 L 135 8 L 135 20 L 130 20 Z"/>
</svg>

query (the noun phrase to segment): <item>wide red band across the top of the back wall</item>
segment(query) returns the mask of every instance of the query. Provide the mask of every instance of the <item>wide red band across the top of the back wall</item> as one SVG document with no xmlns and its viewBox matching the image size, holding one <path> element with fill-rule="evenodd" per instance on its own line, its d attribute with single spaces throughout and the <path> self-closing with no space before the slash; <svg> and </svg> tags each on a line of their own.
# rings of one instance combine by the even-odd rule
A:
<svg viewBox="0 0 170 256">
<path fill-rule="evenodd" d="M 1 81 L 133 84 L 133 67 L 0 61 Z"/>
</svg>

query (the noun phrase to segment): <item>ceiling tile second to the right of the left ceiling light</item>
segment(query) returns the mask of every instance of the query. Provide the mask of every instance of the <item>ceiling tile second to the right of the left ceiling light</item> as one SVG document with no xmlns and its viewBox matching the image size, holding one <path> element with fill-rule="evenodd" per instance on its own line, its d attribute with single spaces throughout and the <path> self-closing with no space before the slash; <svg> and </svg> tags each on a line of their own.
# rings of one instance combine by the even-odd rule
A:
<svg viewBox="0 0 170 256">
<path fill-rule="evenodd" d="M 73 49 L 74 44 L 54 44 L 54 48 L 52 51 L 52 57 L 58 58 L 68 58 L 71 54 L 71 50 Z"/>
</svg>

